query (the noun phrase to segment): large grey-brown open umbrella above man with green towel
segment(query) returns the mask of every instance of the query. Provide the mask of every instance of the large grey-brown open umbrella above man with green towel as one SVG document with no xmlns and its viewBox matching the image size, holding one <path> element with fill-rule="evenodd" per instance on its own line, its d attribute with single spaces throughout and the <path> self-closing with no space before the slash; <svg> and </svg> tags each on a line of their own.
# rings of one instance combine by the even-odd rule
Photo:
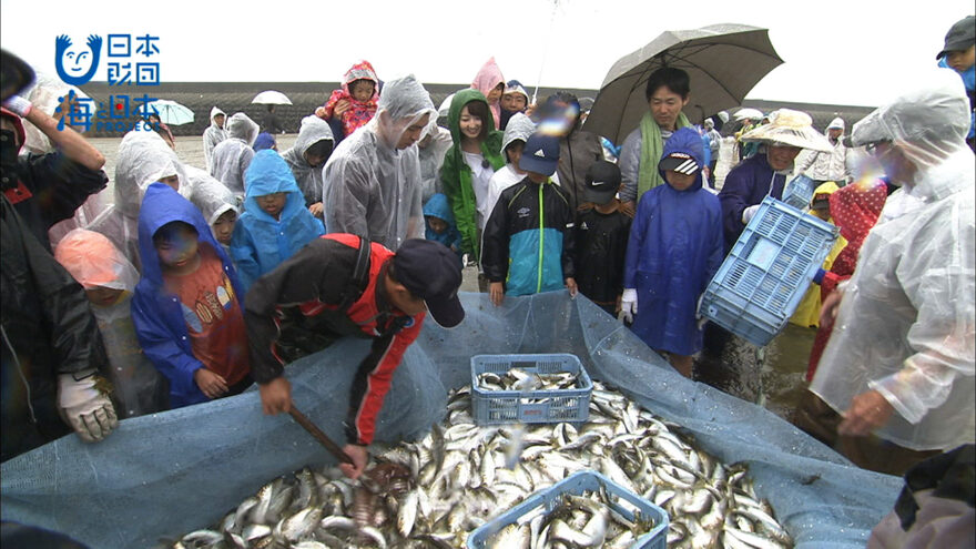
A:
<svg viewBox="0 0 976 549">
<path fill-rule="evenodd" d="M 697 120 L 738 106 L 763 77 L 782 63 L 766 29 L 712 24 L 665 31 L 613 63 L 584 128 L 614 143 L 622 142 L 648 112 L 648 77 L 662 67 L 688 72 L 691 96 L 684 110 Z"/>
</svg>

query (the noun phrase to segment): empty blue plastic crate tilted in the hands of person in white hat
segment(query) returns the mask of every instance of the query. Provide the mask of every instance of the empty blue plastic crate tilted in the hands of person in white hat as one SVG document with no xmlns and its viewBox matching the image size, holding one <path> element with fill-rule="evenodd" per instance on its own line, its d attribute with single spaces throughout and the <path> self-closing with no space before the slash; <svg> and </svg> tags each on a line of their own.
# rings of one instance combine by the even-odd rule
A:
<svg viewBox="0 0 976 549">
<path fill-rule="evenodd" d="M 699 313 L 760 347 L 779 334 L 837 227 L 766 196 L 709 283 Z"/>
</svg>

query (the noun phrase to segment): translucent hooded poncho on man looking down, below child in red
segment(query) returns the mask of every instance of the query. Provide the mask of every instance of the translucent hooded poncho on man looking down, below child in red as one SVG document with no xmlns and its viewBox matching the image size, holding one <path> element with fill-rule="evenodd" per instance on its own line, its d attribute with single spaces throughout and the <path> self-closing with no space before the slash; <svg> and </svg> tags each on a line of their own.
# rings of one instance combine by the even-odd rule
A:
<svg viewBox="0 0 976 549">
<path fill-rule="evenodd" d="M 343 140 L 325 164 L 322 202 L 329 233 L 367 236 L 392 251 L 424 237 L 417 148 L 397 144 L 411 125 L 435 115 L 414 75 L 386 83 L 376 116 Z"/>
</svg>

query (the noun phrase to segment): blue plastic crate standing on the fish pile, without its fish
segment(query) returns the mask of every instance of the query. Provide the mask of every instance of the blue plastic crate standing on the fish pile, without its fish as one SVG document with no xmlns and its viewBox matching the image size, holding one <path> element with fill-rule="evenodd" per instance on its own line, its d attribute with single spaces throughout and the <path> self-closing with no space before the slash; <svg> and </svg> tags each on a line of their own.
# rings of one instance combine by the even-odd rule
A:
<svg viewBox="0 0 976 549">
<path fill-rule="evenodd" d="M 557 390 L 489 390 L 478 386 L 478 375 L 504 374 L 521 368 L 536 374 L 570 373 L 577 387 Z M 478 425 L 586 421 L 590 415 L 593 382 L 570 354 L 477 355 L 471 357 L 471 408 Z"/>
</svg>

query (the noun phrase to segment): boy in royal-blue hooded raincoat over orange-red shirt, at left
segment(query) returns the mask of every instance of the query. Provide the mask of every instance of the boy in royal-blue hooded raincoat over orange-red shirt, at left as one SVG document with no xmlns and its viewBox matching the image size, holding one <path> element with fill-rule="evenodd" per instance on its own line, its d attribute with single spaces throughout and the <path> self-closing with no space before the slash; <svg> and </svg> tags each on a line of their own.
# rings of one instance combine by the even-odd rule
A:
<svg viewBox="0 0 976 549">
<path fill-rule="evenodd" d="M 170 407 L 246 389 L 244 294 L 200 210 L 163 183 L 149 185 L 139 253 L 132 325 L 145 356 L 170 380 Z"/>
</svg>

